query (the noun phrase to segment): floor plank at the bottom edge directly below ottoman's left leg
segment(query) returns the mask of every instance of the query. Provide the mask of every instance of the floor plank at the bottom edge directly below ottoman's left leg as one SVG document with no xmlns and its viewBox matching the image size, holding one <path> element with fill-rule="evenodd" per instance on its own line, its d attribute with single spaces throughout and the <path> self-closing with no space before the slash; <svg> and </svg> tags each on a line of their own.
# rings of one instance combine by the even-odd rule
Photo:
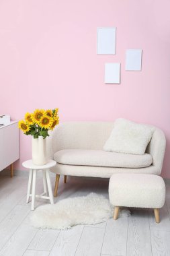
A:
<svg viewBox="0 0 170 256">
<path fill-rule="evenodd" d="M 110 219 L 105 228 L 102 254 L 126 255 L 128 218 Z"/>
</svg>

